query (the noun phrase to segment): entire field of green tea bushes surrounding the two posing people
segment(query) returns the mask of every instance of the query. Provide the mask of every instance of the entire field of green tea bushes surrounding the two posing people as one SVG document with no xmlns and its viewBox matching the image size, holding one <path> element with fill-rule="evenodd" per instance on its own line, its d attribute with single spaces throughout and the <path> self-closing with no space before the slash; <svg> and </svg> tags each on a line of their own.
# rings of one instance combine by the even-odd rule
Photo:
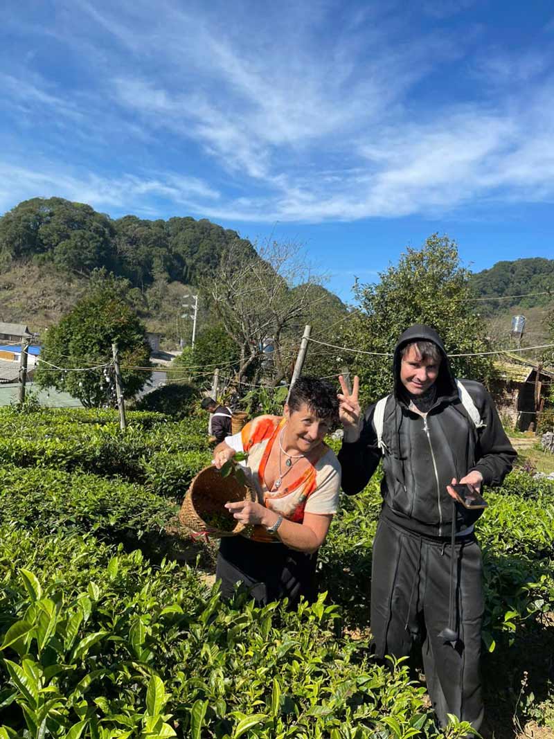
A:
<svg viewBox="0 0 554 739">
<path fill-rule="evenodd" d="M 129 420 L 121 435 L 112 412 L 0 411 L 0 739 L 445 736 L 407 668 L 367 650 L 377 483 L 333 522 L 326 599 L 223 605 L 174 561 L 177 503 L 211 457 L 205 418 Z M 498 652 L 554 610 L 554 494 L 516 473 L 489 500 Z"/>
</svg>

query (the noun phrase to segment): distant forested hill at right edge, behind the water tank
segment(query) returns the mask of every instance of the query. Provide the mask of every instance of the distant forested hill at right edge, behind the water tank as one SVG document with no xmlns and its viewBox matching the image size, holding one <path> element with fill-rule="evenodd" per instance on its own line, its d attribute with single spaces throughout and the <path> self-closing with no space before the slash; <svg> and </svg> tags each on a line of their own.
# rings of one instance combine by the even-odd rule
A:
<svg viewBox="0 0 554 739">
<path fill-rule="evenodd" d="M 554 301 L 554 259 L 533 257 L 516 259 L 513 262 L 496 262 L 488 270 L 471 276 L 471 283 L 479 296 L 527 296 L 513 300 L 484 302 L 483 312 L 502 313 L 507 308 L 518 306 L 531 308 L 546 306 Z M 536 293 L 549 294 L 538 295 Z M 529 294 L 532 293 L 532 294 Z"/>
</svg>

